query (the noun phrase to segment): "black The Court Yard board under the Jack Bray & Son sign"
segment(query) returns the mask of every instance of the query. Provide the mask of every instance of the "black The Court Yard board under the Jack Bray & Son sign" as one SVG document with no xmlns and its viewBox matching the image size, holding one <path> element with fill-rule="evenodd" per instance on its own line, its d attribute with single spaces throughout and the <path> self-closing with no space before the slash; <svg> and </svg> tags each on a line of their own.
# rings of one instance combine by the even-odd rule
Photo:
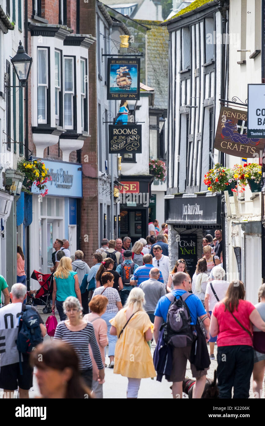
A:
<svg viewBox="0 0 265 426">
<path fill-rule="evenodd" d="M 197 265 L 197 235 L 180 234 L 179 259 L 184 259 L 189 275 L 193 276 Z"/>
</svg>

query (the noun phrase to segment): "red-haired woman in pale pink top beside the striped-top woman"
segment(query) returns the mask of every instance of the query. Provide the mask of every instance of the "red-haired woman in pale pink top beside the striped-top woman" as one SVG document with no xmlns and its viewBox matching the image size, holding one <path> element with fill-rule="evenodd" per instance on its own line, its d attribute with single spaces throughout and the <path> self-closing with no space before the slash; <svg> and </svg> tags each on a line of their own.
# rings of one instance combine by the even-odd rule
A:
<svg viewBox="0 0 265 426">
<path fill-rule="evenodd" d="M 108 305 L 108 298 L 98 294 L 97 296 L 94 296 L 91 302 L 89 302 L 88 306 L 90 308 L 90 314 L 86 314 L 84 316 L 84 320 L 87 322 L 92 322 L 94 327 L 94 332 L 97 340 L 98 347 L 100 348 L 100 355 L 103 362 L 103 365 L 105 365 L 105 346 L 108 345 L 108 327 L 105 320 L 100 318 L 104 313 Z M 90 348 L 90 345 L 89 345 Z M 90 357 L 92 360 L 93 365 L 93 381 L 92 381 L 92 390 L 93 394 L 96 398 L 103 398 L 103 383 L 105 380 L 98 380 L 98 373 L 97 373 L 97 364 L 95 363 L 93 354 L 91 352 L 91 348 L 89 350 Z"/>
</svg>

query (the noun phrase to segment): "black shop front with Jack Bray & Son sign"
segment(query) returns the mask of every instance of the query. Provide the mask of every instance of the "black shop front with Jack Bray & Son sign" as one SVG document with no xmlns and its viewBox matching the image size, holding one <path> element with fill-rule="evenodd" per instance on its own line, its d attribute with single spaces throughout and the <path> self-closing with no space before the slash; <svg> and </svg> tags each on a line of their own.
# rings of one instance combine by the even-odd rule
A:
<svg viewBox="0 0 265 426">
<path fill-rule="evenodd" d="M 169 195 L 165 201 L 170 267 L 185 259 L 192 276 L 203 256 L 202 238 L 221 229 L 221 195 Z"/>
</svg>

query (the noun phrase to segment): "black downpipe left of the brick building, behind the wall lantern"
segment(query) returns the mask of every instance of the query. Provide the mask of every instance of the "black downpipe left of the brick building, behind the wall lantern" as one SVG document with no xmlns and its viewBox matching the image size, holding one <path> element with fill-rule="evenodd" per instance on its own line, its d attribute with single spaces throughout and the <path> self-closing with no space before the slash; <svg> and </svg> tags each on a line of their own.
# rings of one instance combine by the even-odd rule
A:
<svg viewBox="0 0 265 426">
<path fill-rule="evenodd" d="M 24 9 L 24 48 L 28 53 L 28 0 L 25 0 Z M 25 158 L 28 160 L 28 82 L 25 87 Z M 26 277 L 27 277 L 27 290 L 30 290 L 30 250 L 29 250 L 29 226 L 26 226 Z"/>
</svg>

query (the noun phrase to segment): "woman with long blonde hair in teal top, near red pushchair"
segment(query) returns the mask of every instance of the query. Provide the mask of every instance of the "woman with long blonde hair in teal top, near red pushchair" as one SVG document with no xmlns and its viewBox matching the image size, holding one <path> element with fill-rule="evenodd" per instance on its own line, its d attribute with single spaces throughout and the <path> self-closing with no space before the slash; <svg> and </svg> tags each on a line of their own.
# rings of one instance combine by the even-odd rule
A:
<svg viewBox="0 0 265 426">
<path fill-rule="evenodd" d="M 63 256 L 60 259 L 57 270 L 54 272 L 51 307 L 52 311 L 54 311 L 56 301 L 56 308 L 61 321 L 66 320 L 66 314 L 63 312 L 63 302 L 68 296 L 77 297 L 82 306 L 77 272 L 72 270 L 70 257 Z"/>
</svg>

